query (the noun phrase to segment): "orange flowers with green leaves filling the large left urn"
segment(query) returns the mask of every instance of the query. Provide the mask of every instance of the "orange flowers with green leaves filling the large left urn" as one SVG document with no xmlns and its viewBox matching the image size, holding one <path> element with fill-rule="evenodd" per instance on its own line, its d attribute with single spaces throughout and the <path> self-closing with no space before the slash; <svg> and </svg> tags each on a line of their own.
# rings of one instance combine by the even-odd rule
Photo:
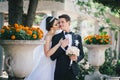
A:
<svg viewBox="0 0 120 80">
<path fill-rule="evenodd" d="M 43 31 L 40 28 L 18 24 L 3 26 L 0 30 L 0 39 L 2 40 L 37 40 L 42 37 Z"/>
</svg>

